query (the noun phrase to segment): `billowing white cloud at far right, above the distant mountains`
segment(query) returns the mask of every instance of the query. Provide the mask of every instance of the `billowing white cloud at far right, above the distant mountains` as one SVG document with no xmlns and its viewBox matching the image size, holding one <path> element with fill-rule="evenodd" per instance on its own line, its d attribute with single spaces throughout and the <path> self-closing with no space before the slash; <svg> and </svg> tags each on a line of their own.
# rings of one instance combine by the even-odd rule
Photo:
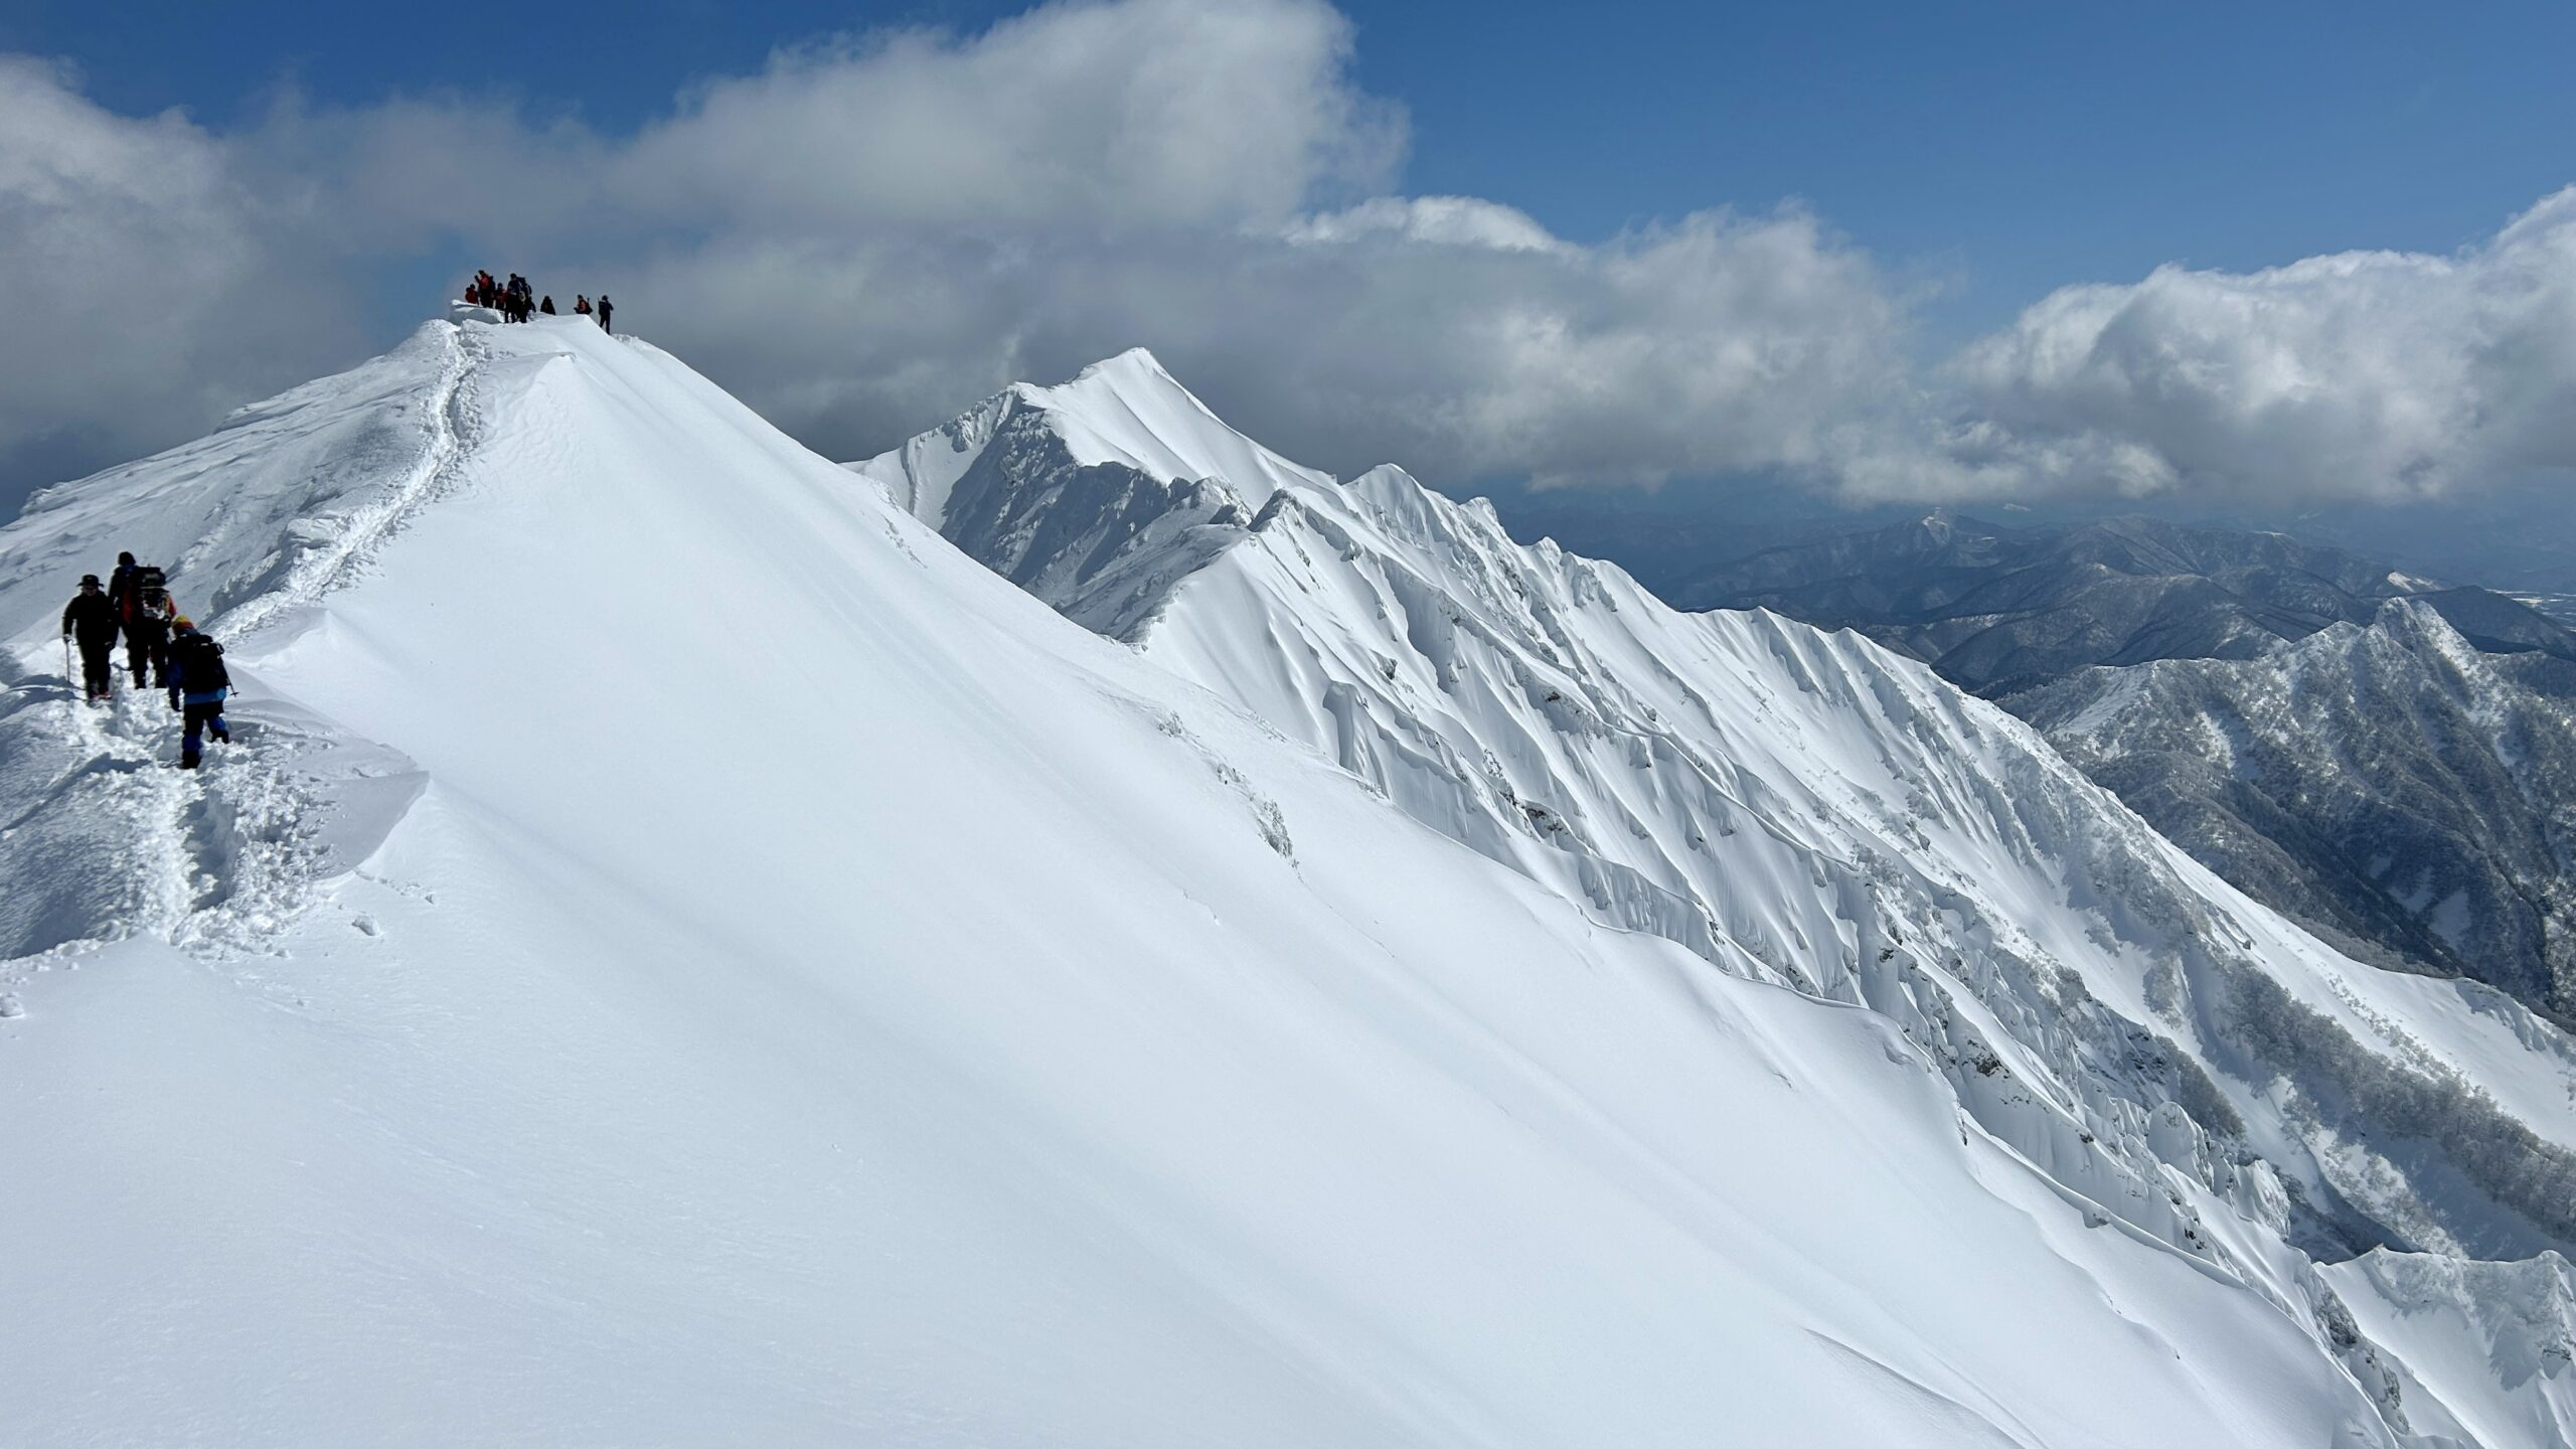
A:
<svg viewBox="0 0 2576 1449">
<path fill-rule="evenodd" d="M 2458 255 L 2069 286 L 1950 366 L 2022 487 L 2429 498 L 2576 467 L 2576 188 Z"/>
</svg>

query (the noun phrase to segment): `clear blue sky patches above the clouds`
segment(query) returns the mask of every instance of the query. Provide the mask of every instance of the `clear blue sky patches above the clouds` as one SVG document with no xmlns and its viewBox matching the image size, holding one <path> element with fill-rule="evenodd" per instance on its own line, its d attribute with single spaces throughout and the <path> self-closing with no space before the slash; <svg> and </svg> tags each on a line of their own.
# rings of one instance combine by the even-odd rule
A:
<svg viewBox="0 0 2576 1449">
<path fill-rule="evenodd" d="M 0 49 L 121 111 L 240 116 L 291 83 L 523 98 L 629 129 L 693 77 L 873 26 L 1023 5 L 18 0 Z M 2571 180 L 2576 5 L 1476 5 L 1352 0 L 1355 75 L 1412 113 L 1406 180 L 1597 240 L 1801 196 L 1996 325 L 2069 281 L 2445 253 Z M 477 46 L 464 36 L 507 36 Z"/>
</svg>

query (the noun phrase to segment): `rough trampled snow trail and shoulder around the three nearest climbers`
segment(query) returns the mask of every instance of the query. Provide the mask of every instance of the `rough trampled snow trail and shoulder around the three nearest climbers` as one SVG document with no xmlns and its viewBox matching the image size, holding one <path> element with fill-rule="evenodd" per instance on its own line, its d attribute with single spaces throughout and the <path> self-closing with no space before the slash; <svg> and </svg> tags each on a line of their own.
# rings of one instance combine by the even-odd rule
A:
<svg viewBox="0 0 2576 1449">
<path fill-rule="evenodd" d="M 160 467 L 39 498 L 31 516 L 52 526 L 21 526 L 0 547 L 15 565 L 0 572 L 0 598 L 26 614 L 46 588 L 100 567 L 80 565 L 77 549 L 134 549 L 170 559 L 183 611 L 227 645 L 309 608 L 451 480 L 479 351 L 471 333 L 433 327 L 404 353 L 332 379 L 340 387 L 245 410 Z M 422 366 L 430 384 L 415 405 L 404 392 Z M 232 487 L 188 487 L 206 477 Z M 52 632 L 36 634 L 21 637 L 0 704 L 0 779 L 13 804 L 0 825 L 0 879 L 10 882 L 0 990 L 134 933 L 255 957 L 325 874 L 374 848 L 417 789 L 392 750 L 263 699 L 240 660 L 232 743 L 209 743 L 201 771 L 175 771 L 180 719 L 160 691 L 134 686 L 121 642 L 116 694 L 93 706 L 59 673 Z"/>
</svg>

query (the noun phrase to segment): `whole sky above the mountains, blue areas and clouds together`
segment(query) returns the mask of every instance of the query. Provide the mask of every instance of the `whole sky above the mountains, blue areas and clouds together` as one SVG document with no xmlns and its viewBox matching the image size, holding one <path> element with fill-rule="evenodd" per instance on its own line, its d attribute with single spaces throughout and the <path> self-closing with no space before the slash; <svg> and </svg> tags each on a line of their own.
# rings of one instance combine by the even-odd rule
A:
<svg viewBox="0 0 2576 1449">
<path fill-rule="evenodd" d="M 15 0 L 0 266 L 62 343 L 0 356 L 0 503 L 474 263 L 835 456 L 1144 343 L 1443 487 L 2563 482 L 2568 57 L 2568 5 Z"/>
</svg>

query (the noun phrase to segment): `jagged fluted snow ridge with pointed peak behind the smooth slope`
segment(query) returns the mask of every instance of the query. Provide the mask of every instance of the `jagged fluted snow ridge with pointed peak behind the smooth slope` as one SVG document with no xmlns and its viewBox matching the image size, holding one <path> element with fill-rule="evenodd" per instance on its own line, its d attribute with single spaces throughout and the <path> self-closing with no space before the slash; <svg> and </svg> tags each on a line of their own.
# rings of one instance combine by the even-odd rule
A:
<svg viewBox="0 0 2576 1449">
<path fill-rule="evenodd" d="M 1087 449 L 1092 405 L 1188 446 Z M 2576 1243 L 2576 1047 L 2501 993 L 2329 951 L 1855 634 L 1674 614 L 1401 469 L 1334 485 L 1211 423 L 1128 353 L 855 469 L 1595 920 L 1873 1008 L 2089 1212 L 2313 1318 L 2388 1403 L 2311 1253 Z"/>
</svg>

